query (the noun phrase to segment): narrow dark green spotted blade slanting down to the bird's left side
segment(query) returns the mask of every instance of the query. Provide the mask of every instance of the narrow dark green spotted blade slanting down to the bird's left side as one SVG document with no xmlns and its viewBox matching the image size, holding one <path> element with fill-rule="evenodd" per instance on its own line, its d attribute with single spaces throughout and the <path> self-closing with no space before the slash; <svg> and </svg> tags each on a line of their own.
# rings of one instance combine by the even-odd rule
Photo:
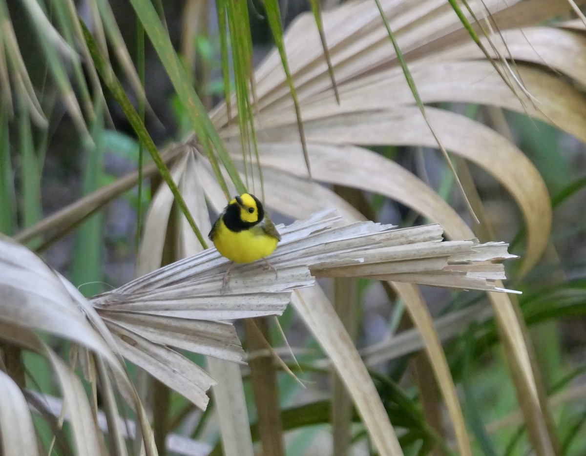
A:
<svg viewBox="0 0 586 456">
<path fill-rule="evenodd" d="M 105 62 L 104 57 L 101 55 L 100 50 L 98 49 L 97 44 L 93 39 L 93 36 L 91 36 L 91 33 L 86 28 L 86 26 L 83 25 L 83 23 L 81 25 L 84 30 L 84 36 L 86 39 L 86 43 L 88 45 L 88 49 L 91 53 L 91 58 L 94 61 L 94 65 L 96 65 L 98 73 L 100 73 L 101 77 L 104 79 L 105 84 L 113 94 L 115 100 L 118 102 L 118 104 L 120 104 L 122 111 L 124 111 L 124 114 L 126 115 L 128 121 L 132 125 L 132 128 L 134 128 L 138 140 L 148 150 L 149 154 L 151 154 L 152 159 L 156 164 L 156 167 L 159 169 L 159 172 L 161 173 L 163 180 L 169 186 L 169 189 L 171 189 L 171 192 L 175 197 L 175 201 L 177 202 L 179 209 L 188 220 L 189 225 L 191 226 L 193 232 L 197 237 L 197 240 L 199 240 L 200 244 L 202 244 L 202 247 L 204 249 L 207 249 L 207 243 L 203 239 L 202 233 L 200 233 L 199 228 L 197 228 L 197 225 L 195 223 L 195 220 L 193 220 L 192 215 L 189 213 L 189 209 L 185 204 L 185 200 L 183 200 L 183 196 L 181 196 L 181 193 L 179 193 L 177 185 L 171 178 L 171 173 L 169 173 L 169 169 L 162 161 L 161 155 L 159 155 L 159 151 L 156 149 L 155 143 L 152 141 L 151 136 L 148 134 L 147 129 L 142 123 L 140 116 L 138 115 L 134 107 L 132 107 L 132 104 L 130 103 L 130 100 L 128 100 L 128 97 L 124 91 L 124 88 L 122 88 L 120 81 L 118 81 L 118 79 L 114 76 L 114 73 L 111 71 L 111 67 L 109 67 Z"/>
</svg>

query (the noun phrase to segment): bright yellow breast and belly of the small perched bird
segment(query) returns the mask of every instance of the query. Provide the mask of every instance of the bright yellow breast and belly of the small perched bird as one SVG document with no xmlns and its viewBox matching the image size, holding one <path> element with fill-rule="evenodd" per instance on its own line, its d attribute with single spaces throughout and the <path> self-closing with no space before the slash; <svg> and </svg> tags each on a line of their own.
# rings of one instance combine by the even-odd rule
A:
<svg viewBox="0 0 586 456">
<path fill-rule="evenodd" d="M 250 263 L 269 256 L 277 247 L 278 240 L 269 236 L 260 226 L 233 232 L 223 220 L 219 220 L 213 237 L 214 246 L 234 263 Z"/>
</svg>

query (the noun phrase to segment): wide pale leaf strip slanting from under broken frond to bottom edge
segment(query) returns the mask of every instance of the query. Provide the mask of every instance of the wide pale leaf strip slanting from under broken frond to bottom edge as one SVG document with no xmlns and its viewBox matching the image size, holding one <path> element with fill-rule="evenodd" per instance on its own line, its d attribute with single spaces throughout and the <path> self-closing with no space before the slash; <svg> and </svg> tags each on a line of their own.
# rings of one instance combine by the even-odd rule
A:
<svg viewBox="0 0 586 456">
<path fill-rule="evenodd" d="M 292 304 L 323 350 L 328 353 L 340 379 L 346 384 L 379 454 L 402 455 L 397 435 L 372 378 L 321 288 L 315 286 L 299 290 L 294 294 Z"/>
</svg>

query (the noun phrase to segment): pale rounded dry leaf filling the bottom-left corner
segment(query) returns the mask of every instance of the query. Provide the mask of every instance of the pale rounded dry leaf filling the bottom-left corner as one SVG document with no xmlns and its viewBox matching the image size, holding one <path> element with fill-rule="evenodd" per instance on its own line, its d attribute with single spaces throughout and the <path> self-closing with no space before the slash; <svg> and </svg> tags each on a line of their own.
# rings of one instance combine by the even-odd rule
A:
<svg viewBox="0 0 586 456">
<path fill-rule="evenodd" d="M 0 436 L 5 456 L 38 456 L 37 437 L 21 389 L 0 370 Z"/>
</svg>

